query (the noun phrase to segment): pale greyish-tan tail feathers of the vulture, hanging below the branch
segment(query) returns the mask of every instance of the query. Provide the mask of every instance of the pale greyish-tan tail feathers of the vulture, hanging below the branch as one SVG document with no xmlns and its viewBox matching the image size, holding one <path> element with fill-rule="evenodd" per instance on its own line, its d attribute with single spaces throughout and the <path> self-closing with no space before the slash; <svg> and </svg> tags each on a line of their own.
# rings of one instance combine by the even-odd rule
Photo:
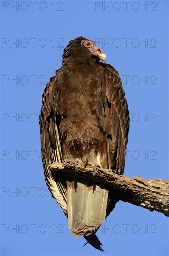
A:
<svg viewBox="0 0 169 256">
<path fill-rule="evenodd" d="M 86 236 L 88 240 L 94 236 L 106 218 L 108 189 L 101 184 L 87 184 L 80 179 L 67 181 L 68 225 L 73 236 Z M 94 236 L 97 243 L 100 242 Z M 88 241 L 87 240 L 87 241 Z"/>
</svg>

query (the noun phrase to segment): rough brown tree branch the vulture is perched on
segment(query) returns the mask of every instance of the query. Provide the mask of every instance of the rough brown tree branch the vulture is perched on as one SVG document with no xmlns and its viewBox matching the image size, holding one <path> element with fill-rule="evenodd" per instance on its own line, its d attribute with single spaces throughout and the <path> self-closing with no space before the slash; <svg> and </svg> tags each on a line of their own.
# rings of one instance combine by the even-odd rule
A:
<svg viewBox="0 0 169 256">
<path fill-rule="evenodd" d="M 169 216 L 169 181 L 158 179 L 144 179 L 141 177 L 126 177 L 113 174 L 111 170 L 97 168 L 93 177 L 93 168 L 84 164 L 77 164 L 75 172 L 72 161 L 54 162 L 50 165 L 51 171 L 64 172 L 66 176 L 79 177 L 112 187 L 118 195 L 118 200 L 142 206 L 150 211 L 158 211 Z"/>
</svg>

